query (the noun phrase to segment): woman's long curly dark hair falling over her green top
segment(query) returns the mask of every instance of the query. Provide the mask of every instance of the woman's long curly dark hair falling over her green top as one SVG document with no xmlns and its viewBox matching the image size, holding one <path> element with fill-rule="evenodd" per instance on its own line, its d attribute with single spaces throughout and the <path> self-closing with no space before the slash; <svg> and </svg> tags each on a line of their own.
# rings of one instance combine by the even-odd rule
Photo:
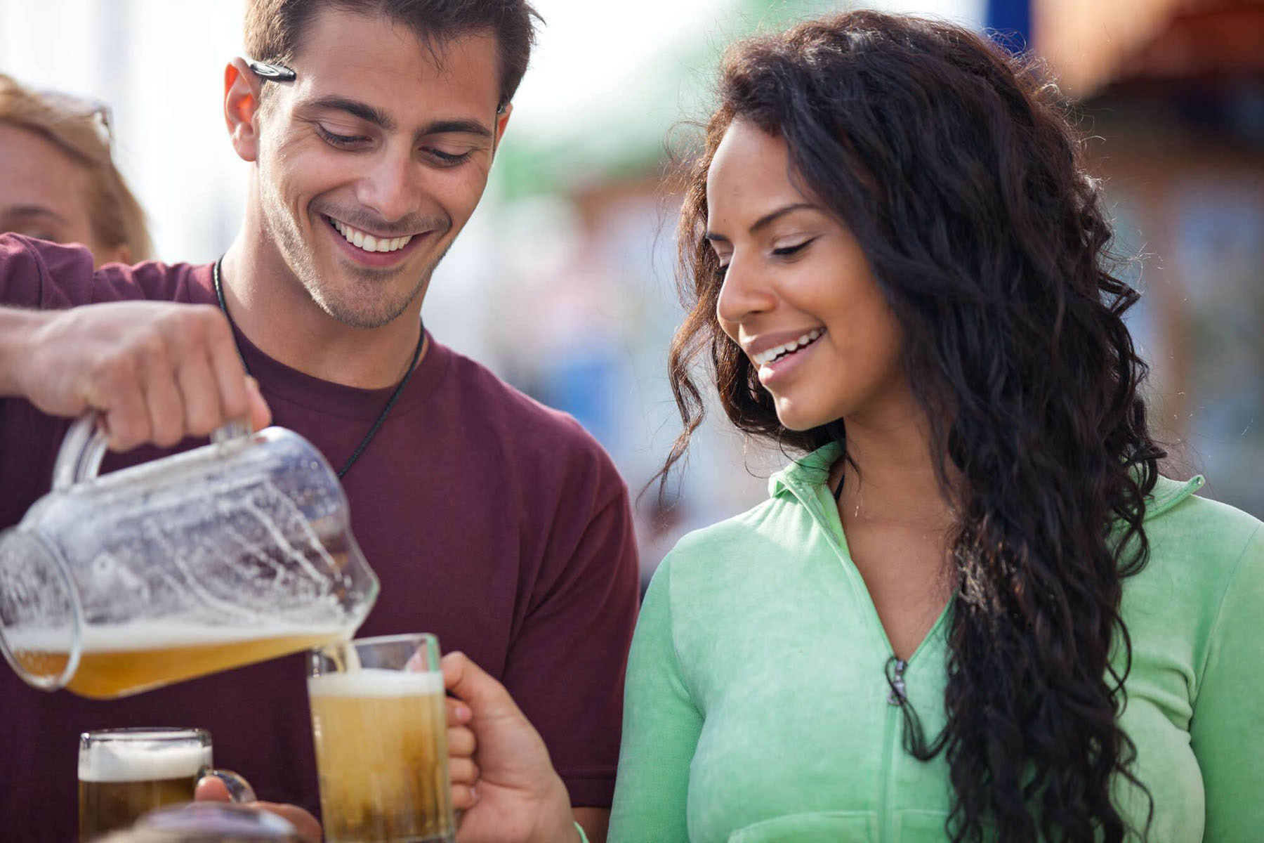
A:
<svg viewBox="0 0 1264 843">
<path fill-rule="evenodd" d="M 744 434 L 846 452 L 843 420 L 780 425 L 717 322 L 707 172 L 741 119 L 786 140 L 791 177 L 863 248 L 932 425 L 956 513 L 948 722 L 928 743 L 906 713 L 905 746 L 945 752 L 947 833 L 1122 840 L 1112 780 L 1148 791 L 1116 719 L 1131 665 L 1119 609 L 1124 578 L 1149 554 L 1145 497 L 1165 454 L 1148 432 L 1146 365 L 1122 321 L 1138 293 L 1112 274 L 1111 229 L 1067 102 L 1033 62 L 967 29 L 876 11 L 739 43 L 719 92 L 684 191 L 688 316 L 670 375 L 685 427 L 664 482 L 704 415 L 698 363 Z M 1146 835 L 1149 819 L 1133 830 Z"/>
</svg>

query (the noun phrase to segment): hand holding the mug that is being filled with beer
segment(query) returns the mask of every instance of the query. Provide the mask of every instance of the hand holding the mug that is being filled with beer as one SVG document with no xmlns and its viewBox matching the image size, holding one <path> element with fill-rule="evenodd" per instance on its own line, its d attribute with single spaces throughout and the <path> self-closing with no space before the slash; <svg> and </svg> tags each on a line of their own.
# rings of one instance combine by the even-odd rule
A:
<svg viewBox="0 0 1264 843">
<path fill-rule="evenodd" d="M 458 843 L 579 840 L 566 786 L 509 693 L 464 653 L 444 656 Z"/>
</svg>

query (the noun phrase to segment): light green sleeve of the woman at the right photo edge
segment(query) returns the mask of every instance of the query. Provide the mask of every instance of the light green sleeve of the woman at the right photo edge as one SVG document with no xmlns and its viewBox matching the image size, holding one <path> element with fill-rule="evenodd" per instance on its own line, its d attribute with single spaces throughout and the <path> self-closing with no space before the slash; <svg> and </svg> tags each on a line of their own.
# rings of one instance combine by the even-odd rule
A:
<svg viewBox="0 0 1264 843">
<path fill-rule="evenodd" d="M 1264 527 L 1246 542 L 1211 632 L 1191 742 L 1207 800 L 1206 840 L 1264 828 Z"/>
</svg>

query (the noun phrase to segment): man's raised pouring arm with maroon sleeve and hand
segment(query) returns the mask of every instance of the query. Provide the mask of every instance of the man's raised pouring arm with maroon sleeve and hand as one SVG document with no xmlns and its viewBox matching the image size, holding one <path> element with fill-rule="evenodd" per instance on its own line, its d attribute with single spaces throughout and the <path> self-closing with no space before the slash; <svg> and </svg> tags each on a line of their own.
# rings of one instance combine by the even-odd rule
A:
<svg viewBox="0 0 1264 843">
<path fill-rule="evenodd" d="M 119 451 L 172 446 L 248 415 L 267 425 L 219 308 L 90 303 L 109 278 L 86 249 L 0 234 L 0 398 L 49 416 L 99 411 Z"/>
</svg>

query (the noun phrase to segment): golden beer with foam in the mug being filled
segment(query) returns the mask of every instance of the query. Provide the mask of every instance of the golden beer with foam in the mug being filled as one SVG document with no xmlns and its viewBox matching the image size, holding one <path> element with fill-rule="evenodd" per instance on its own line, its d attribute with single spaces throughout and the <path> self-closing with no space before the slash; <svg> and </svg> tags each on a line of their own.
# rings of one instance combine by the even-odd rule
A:
<svg viewBox="0 0 1264 843">
<path fill-rule="evenodd" d="M 369 667 L 311 676 L 307 691 L 325 839 L 451 840 L 442 675 Z"/>
</svg>

